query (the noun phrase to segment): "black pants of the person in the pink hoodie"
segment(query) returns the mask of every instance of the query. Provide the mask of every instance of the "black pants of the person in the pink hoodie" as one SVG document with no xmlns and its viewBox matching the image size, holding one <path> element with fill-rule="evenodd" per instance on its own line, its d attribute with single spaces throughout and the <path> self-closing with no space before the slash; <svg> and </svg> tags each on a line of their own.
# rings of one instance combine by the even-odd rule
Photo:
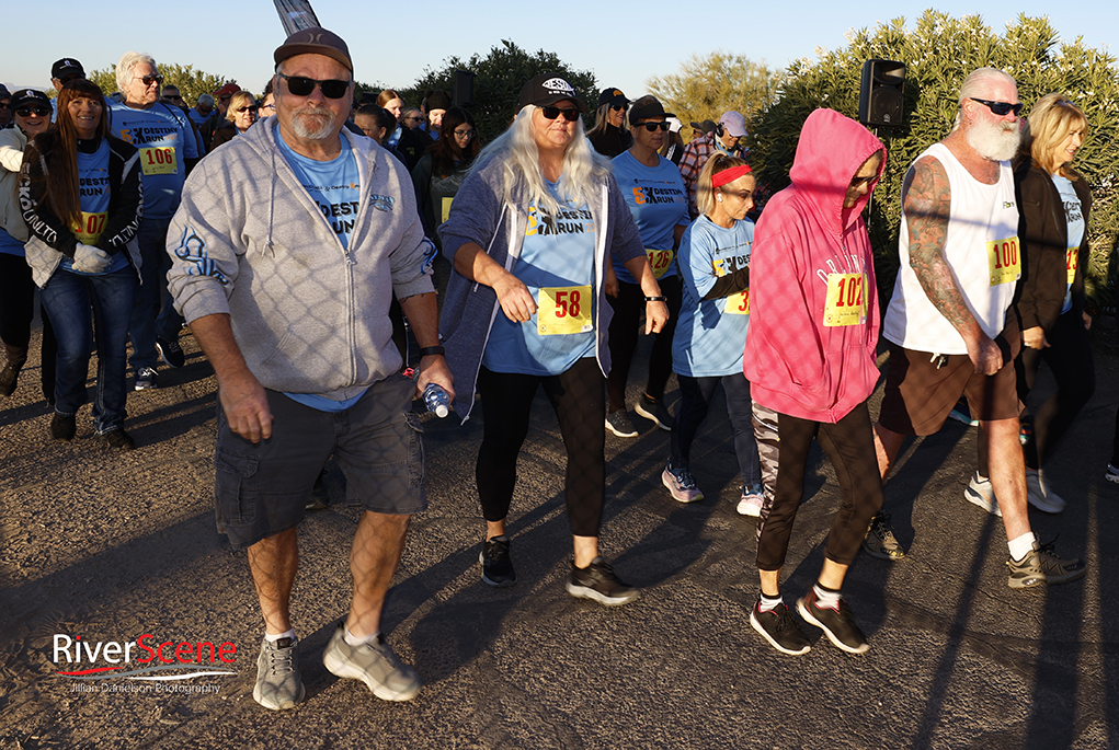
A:
<svg viewBox="0 0 1119 750">
<path fill-rule="evenodd" d="M 779 414 L 778 431 L 781 446 L 777 491 L 769 516 L 759 521 L 758 569 L 780 570 L 784 566 L 792 522 L 805 495 L 805 468 L 812 438 L 819 439 L 831 462 L 841 493 L 824 556 L 849 566 L 866 537 L 871 519 L 882 509 L 882 477 L 866 401 L 834 425 Z"/>
</svg>

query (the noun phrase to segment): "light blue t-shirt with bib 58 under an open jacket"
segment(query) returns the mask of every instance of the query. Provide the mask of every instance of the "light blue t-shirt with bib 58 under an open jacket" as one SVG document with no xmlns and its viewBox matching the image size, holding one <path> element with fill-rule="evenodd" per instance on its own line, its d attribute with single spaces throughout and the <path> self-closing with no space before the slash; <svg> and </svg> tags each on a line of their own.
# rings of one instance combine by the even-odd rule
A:
<svg viewBox="0 0 1119 750">
<path fill-rule="evenodd" d="M 560 202 L 556 215 L 528 207 L 528 226 L 513 275 L 525 283 L 537 311 L 514 323 L 500 310 L 482 364 L 492 372 L 552 376 L 594 354 L 594 220 L 583 203 Z"/>
</svg>

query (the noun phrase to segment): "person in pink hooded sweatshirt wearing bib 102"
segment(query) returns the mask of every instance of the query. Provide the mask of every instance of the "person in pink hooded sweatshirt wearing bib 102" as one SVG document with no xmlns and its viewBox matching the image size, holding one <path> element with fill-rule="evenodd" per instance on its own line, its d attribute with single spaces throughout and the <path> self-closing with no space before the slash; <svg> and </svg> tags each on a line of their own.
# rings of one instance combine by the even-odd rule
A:
<svg viewBox="0 0 1119 750">
<path fill-rule="evenodd" d="M 797 609 L 839 648 L 861 654 L 869 647 L 840 588 L 882 507 L 866 406 L 878 379 L 878 298 L 862 211 L 885 159 L 885 146 L 865 127 L 817 110 L 800 132 L 792 184 L 770 200 L 754 232 L 744 369 L 755 414 L 775 414 L 780 452 L 772 500 L 758 524 L 761 596 L 750 623 L 786 654 L 810 647 L 779 582 L 812 438 L 835 467 L 843 499 L 824 569 Z"/>
</svg>

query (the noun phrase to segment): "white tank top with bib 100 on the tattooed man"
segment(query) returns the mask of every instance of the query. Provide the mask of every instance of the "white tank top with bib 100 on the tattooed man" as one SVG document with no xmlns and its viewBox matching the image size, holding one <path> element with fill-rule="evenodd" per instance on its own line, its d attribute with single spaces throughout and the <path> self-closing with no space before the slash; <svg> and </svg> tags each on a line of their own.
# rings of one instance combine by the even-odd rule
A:
<svg viewBox="0 0 1119 750">
<path fill-rule="evenodd" d="M 934 158 L 948 173 L 952 198 L 944 256 L 968 308 L 984 333 L 994 339 L 1003 331 L 1015 283 L 1022 276 L 1010 162 L 999 162 L 998 182 L 985 184 L 971 177 L 942 143 L 929 146 L 918 159 L 923 156 Z M 901 266 L 882 334 L 905 349 L 967 354 L 963 336 L 929 301 L 910 267 L 904 215 L 897 254 Z"/>
</svg>

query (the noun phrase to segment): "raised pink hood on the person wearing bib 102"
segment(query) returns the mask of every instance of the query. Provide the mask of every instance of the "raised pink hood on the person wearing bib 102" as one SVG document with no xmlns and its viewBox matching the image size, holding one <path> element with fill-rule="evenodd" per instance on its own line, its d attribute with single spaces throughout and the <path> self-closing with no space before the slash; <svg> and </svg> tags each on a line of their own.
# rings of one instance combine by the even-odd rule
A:
<svg viewBox="0 0 1119 750">
<path fill-rule="evenodd" d="M 843 201 L 852 178 L 876 151 L 882 152 L 878 174 L 866 194 L 845 209 Z M 817 219 L 830 231 L 843 234 L 866 208 L 885 168 L 886 146 L 871 131 L 835 110 L 816 110 L 800 131 L 789 177 L 812 205 Z"/>
</svg>

